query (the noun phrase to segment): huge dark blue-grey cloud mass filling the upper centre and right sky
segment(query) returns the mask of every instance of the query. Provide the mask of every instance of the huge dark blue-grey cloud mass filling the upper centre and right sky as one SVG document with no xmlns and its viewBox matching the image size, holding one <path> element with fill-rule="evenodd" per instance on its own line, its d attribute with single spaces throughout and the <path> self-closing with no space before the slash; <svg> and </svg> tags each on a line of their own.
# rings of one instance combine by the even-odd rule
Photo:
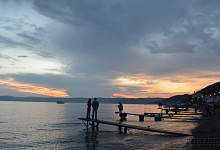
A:
<svg viewBox="0 0 220 150">
<path fill-rule="evenodd" d="M 214 36 L 218 5 L 197 0 L 34 2 L 39 13 L 69 26 L 54 43 L 80 56 L 76 70 L 154 75 L 187 70 L 189 64 L 200 67 L 207 62 L 195 59 L 201 52 L 219 54 L 220 39 Z M 151 54 L 140 55 L 139 48 Z"/>
</svg>

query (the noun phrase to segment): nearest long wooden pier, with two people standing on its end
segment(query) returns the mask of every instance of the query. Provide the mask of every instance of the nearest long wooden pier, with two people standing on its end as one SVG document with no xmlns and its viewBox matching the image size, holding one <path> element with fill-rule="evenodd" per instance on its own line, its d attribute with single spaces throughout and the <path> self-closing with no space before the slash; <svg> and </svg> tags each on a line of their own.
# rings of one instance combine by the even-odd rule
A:
<svg viewBox="0 0 220 150">
<path fill-rule="evenodd" d="M 118 126 L 119 130 L 123 127 L 125 133 L 127 132 L 127 129 L 137 129 L 137 130 L 158 132 L 158 133 L 164 133 L 164 134 L 170 134 L 170 135 L 176 135 L 176 136 L 191 136 L 190 134 L 170 132 L 170 131 L 165 131 L 165 130 L 152 129 L 150 127 L 141 127 L 141 126 L 137 126 L 137 125 L 130 125 L 130 124 L 124 124 L 124 123 L 121 124 L 121 123 L 117 123 L 117 122 L 93 120 L 93 119 L 87 119 L 87 118 L 78 118 L 78 119 L 83 121 L 83 123 L 86 125 L 87 129 L 90 124 L 93 126 L 94 123 L 97 123 L 97 125 L 98 124 L 106 124 L 106 125 Z M 86 121 L 86 123 L 84 121 Z"/>
</svg>

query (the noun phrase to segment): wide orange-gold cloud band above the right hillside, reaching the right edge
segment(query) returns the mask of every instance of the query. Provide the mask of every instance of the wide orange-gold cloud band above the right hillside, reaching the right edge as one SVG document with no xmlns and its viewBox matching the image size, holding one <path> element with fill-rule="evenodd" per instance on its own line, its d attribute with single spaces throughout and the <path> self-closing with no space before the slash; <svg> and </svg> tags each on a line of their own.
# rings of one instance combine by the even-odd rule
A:
<svg viewBox="0 0 220 150">
<path fill-rule="evenodd" d="M 156 77 L 145 74 L 121 76 L 114 84 L 119 86 L 120 92 L 113 96 L 141 98 L 141 97 L 171 97 L 181 94 L 192 94 L 194 91 L 219 81 L 218 76 L 193 77 L 192 75 L 175 75 Z"/>
</svg>

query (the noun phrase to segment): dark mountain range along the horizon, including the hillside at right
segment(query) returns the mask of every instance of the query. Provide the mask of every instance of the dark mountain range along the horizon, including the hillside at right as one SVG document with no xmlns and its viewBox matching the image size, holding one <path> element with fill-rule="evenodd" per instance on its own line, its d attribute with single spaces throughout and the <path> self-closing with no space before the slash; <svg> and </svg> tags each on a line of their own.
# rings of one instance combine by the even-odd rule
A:
<svg viewBox="0 0 220 150">
<path fill-rule="evenodd" d="M 211 84 L 196 93 L 203 95 L 220 95 L 220 82 Z M 14 97 L 14 96 L 0 96 L 0 101 L 31 101 L 31 102 L 56 102 L 58 100 L 66 103 L 87 103 L 89 98 L 42 98 L 42 97 Z M 175 95 L 170 98 L 98 98 L 100 103 L 117 104 L 158 104 L 158 103 L 177 103 L 188 102 L 192 99 L 192 94 Z"/>
</svg>

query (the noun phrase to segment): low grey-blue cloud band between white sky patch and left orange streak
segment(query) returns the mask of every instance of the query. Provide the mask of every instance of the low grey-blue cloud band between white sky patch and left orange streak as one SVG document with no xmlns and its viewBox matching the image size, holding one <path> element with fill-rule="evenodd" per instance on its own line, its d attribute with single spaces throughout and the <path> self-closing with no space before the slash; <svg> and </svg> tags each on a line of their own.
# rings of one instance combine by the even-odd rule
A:
<svg viewBox="0 0 220 150">
<path fill-rule="evenodd" d="M 60 89 L 66 89 L 67 93 L 72 96 L 109 97 L 109 95 L 113 95 L 113 93 L 117 91 L 116 86 L 109 85 L 106 79 L 98 76 L 90 76 L 90 78 L 87 78 L 54 74 L 11 74 L 10 77 L 13 77 L 17 81 L 46 86 L 48 88 L 59 87 Z"/>
</svg>

